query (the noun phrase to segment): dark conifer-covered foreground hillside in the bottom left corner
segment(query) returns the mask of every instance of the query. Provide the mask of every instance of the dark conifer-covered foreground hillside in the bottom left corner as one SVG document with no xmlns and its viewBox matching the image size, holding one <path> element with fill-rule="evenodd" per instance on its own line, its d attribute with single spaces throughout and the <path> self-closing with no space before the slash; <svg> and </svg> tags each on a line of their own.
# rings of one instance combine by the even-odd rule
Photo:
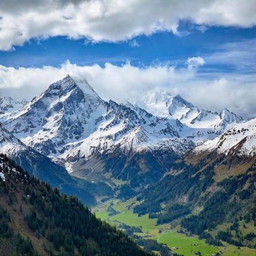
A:
<svg viewBox="0 0 256 256">
<path fill-rule="evenodd" d="M 0 156 L 0 255 L 147 255 L 126 234 Z"/>
</svg>

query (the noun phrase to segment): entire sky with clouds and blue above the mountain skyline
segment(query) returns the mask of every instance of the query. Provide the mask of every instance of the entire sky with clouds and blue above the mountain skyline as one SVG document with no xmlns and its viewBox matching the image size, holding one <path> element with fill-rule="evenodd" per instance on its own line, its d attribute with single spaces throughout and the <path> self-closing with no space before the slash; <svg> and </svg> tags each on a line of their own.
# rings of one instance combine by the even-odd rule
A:
<svg viewBox="0 0 256 256">
<path fill-rule="evenodd" d="M 31 100 L 67 73 L 104 100 L 151 91 L 256 117 L 254 0 L 2 0 L 0 96 Z"/>
</svg>

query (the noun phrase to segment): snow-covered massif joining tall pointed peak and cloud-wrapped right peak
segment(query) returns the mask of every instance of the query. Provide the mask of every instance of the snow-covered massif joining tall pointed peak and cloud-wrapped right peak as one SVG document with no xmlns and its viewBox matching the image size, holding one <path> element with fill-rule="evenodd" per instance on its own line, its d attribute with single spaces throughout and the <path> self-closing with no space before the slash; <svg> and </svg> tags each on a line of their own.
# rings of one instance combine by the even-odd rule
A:
<svg viewBox="0 0 256 256">
<path fill-rule="evenodd" d="M 26 146 L 75 162 L 117 148 L 141 152 L 166 143 L 175 154 L 183 154 L 243 119 L 227 109 L 200 110 L 170 92 L 149 93 L 137 104 L 104 102 L 86 79 L 67 75 L 1 121 Z"/>
</svg>

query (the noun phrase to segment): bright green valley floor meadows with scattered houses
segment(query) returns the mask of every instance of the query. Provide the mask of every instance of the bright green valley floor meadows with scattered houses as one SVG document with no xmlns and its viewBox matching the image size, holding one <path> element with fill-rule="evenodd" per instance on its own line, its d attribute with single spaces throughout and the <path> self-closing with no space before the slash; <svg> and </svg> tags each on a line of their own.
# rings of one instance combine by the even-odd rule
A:
<svg viewBox="0 0 256 256">
<path fill-rule="evenodd" d="M 185 256 L 194 256 L 195 253 L 200 252 L 201 255 L 213 255 L 220 253 L 224 256 L 253 256 L 256 255 L 255 249 L 247 247 L 235 247 L 223 242 L 224 247 L 216 247 L 208 245 L 205 240 L 199 239 L 198 236 L 189 236 L 181 233 L 181 226 L 179 221 L 172 222 L 172 224 L 156 224 L 156 219 L 150 219 L 148 214 L 138 216 L 133 213 L 133 207 L 139 202 L 135 198 L 127 201 L 119 199 L 108 200 L 104 203 L 96 205 L 92 209 L 96 216 L 102 220 L 106 220 L 109 224 L 117 227 L 120 224 L 127 224 L 141 228 L 141 233 L 136 233 L 145 239 L 154 239 L 158 243 L 166 244 L 172 251 Z M 161 230 L 159 232 L 159 230 Z"/>
</svg>

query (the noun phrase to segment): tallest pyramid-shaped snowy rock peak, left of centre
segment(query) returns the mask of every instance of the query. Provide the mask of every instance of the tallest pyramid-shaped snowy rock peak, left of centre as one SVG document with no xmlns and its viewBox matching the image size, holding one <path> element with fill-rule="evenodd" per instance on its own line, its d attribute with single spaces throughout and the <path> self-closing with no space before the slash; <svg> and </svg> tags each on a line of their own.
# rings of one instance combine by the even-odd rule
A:
<svg viewBox="0 0 256 256">
<path fill-rule="evenodd" d="M 51 84 L 19 113 L 13 113 L 5 126 L 46 155 L 64 143 L 90 134 L 96 119 L 104 113 L 105 102 L 86 80 L 79 80 L 78 84 L 86 91 L 70 75 Z"/>
</svg>

